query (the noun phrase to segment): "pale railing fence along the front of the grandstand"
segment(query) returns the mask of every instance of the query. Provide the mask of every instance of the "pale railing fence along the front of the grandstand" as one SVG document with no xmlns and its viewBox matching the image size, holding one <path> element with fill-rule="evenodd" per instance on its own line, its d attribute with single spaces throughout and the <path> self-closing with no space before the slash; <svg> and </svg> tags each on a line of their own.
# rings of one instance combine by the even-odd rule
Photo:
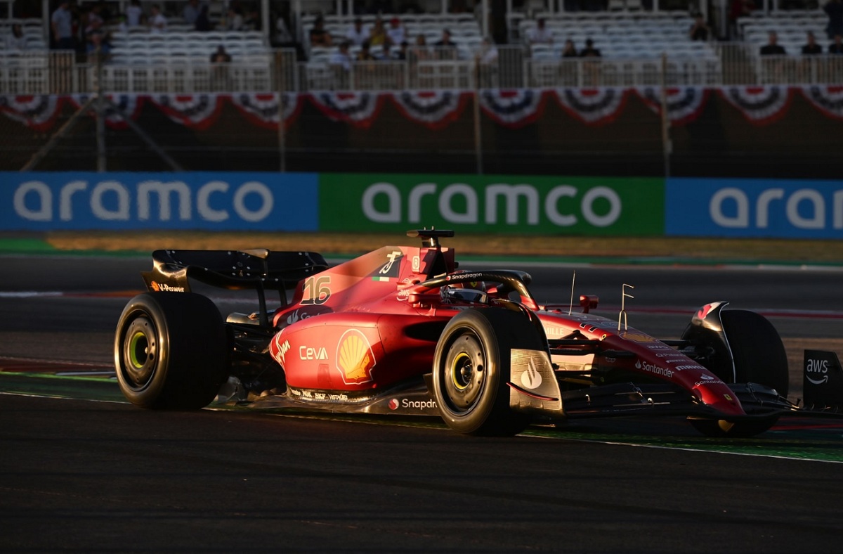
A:
<svg viewBox="0 0 843 554">
<path fill-rule="evenodd" d="M 0 54 L 0 94 L 307 92 L 527 87 L 718 86 L 841 84 L 843 56 L 760 56 L 754 46 L 715 43 L 707 56 L 534 58 L 520 46 L 498 47 L 497 59 L 298 62 L 277 50 L 248 62 L 212 64 L 170 58 L 156 63 L 78 62 L 67 52 Z M 98 78 L 98 75 L 101 77 Z"/>
</svg>

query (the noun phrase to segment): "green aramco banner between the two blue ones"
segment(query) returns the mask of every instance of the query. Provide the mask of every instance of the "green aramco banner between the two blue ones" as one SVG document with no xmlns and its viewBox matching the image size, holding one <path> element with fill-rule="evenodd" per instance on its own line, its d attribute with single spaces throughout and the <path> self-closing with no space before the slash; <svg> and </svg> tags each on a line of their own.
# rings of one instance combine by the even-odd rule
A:
<svg viewBox="0 0 843 554">
<path fill-rule="evenodd" d="M 319 185 L 324 231 L 664 233 L 659 178 L 322 174 Z"/>
</svg>

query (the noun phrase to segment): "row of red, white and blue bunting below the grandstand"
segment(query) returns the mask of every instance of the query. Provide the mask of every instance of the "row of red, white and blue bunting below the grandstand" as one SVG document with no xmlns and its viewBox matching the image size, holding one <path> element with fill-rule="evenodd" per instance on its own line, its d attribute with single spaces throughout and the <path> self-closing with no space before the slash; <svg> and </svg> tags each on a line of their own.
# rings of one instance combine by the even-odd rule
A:
<svg viewBox="0 0 843 554">
<path fill-rule="evenodd" d="M 674 125 L 695 121 L 704 110 L 712 92 L 732 105 L 753 125 L 768 125 L 787 113 L 795 94 L 824 116 L 843 119 L 843 86 L 741 86 L 667 89 L 668 117 Z M 289 126 L 309 101 L 325 116 L 358 128 L 366 129 L 377 120 L 384 102 L 395 105 L 403 116 L 432 130 L 442 130 L 464 116 L 465 107 L 474 93 L 460 90 L 421 92 L 334 92 L 266 94 L 109 94 L 120 110 L 106 111 L 106 124 L 123 129 L 123 117 L 137 120 L 145 105 L 153 105 L 171 121 L 196 129 L 207 130 L 218 119 L 223 106 L 230 103 L 253 125 L 277 129 L 279 100 L 284 121 Z M 537 121 L 552 96 L 566 113 L 588 126 L 615 121 L 623 113 L 630 94 L 636 94 L 654 113 L 661 113 L 661 89 L 483 89 L 480 92 L 481 113 L 498 125 L 519 128 Z M 56 125 L 65 105 L 77 110 L 88 94 L 58 96 L 55 94 L 0 94 L 0 112 L 37 132 L 49 132 Z M 93 115 L 93 111 L 92 114 Z"/>
</svg>

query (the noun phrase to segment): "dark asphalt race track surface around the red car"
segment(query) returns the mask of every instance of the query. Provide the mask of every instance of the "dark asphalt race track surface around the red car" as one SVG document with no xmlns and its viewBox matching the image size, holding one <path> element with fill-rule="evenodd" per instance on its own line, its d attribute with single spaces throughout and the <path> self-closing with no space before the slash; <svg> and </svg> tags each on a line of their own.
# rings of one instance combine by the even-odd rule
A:
<svg viewBox="0 0 843 554">
<path fill-rule="evenodd" d="M 151 261 L 0 264 L 0 550 L 839 547 L 839 420 L 788 418 L 726 441 L 674 418 L 466 438 L 434 420 L 143 411 L 97 371 Z M 656 336 L 679 336 L 696 307 L 728 299 L 768 315 L 786 344 L 843 353 L 833 269 L 533 266 L 535 295 L 567 303 L 575 269 L 577 294 L 598 294 L 609 317 L 634 285 L 630 325 Z"/>
</svg>

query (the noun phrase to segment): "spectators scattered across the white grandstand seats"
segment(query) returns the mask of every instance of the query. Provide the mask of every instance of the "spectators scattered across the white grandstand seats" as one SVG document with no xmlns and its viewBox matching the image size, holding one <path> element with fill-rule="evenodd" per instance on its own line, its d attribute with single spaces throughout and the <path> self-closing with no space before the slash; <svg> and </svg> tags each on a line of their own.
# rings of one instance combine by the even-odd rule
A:
<svg viewBox="0 0 843 554">
<path fill-rule="evenodd" d="M 732 0 L 730 19 L 734 22 L 752 13 L 756 5 L 754 0 Z M 207 0 L 187 0 L 180 13 L 170 13 L 169 17 L 163 12 L 161 4 L 142 4 L 140 0 L 131 0 L 125 13 L 110 12 L 110 4 L 102 1 L 77 4 L 75 0 L 60 0 L 57 8 L 50 15 L 49 35 L 51 47 L 54 49 L 76 50 L 89 56 L 102 56 L 102 59 L 108 59 L 111 49 L 110 29 L 144 29 L 152 35 L 163 34 L 168 30 L 169 18 L 178 19 L 180 23 L 184 22 L 192 29 L 199 31 L 255 29 L 255 27 L 260 27 L 257 7 L 258 3 L 254 0 L 233 0 L 228 3 L 227 12 L 221 18 L 211 21 Z M 776 32 L 771 31 L 767 44 L 760 46 L 760 54 L 781 56 L 840 53 L 843 48 L 840 46 L 840 37 L 843 35 L 843 0 L 827 0 L 822 5 L 822 9 L 828 17 L 825 31 L 830 43 L 827 46 L 820 44 L 813 32 L 808 32 L 801 50 L 796 51 L 792 37 L 786 49 L 778 43 Z M 306 46 L 336 49 L 330 56 L 331 63 L 342 67 L 354 61 L 431 58 L 447 60 L 458 57 L 458 45 L 447 27 L 442 29 L 439 40 L 434 41 L 431 38 L 431 44 L 428 44 L 426 35 L 411 36 L 397 15 L 378 16 L 369 21 L 370 24 L 366 24 L 364 19 L 357 17 L 340 40 L 336 34 L 332 36 L 325 29 L 325 19 L 319 17 L 315 19 L 312 28 L 305 30 Z M 711 41 L 717 38 L 701 13 L 695 13 L 694 20 L 687 29 L 687 36 L 693 41 Z M 276 33 L 273 37 L 276 39 L 273 40 L 275 46 L 301 46 L 287 29 L 287 24 L 281 17 L 277 18 Z M 549 29 L 547 20 L 540 17 L 535 20 L 534 27 L 524 34 L 524 43 L 529 46 L 552 45 L 555 38 L 561 42 L 561 37 L 555 37 Z M 578 40 L 583 40 L 582 35 Z M 3 37 L 3 44 L 8 50 L 26 48 L 26 40 L 19 24 L 9 28 L 8 35 Z M 792 51 L 789 52 L 788 49 Z M 299 51 L 303 52 L 301 49 Z M 564 46 L 554 52 L 555 56 L 564 58 L 602 55 L 592 37 L 584 40 L 581 45 L 577 45 L 574 40 L 568 38 L 564 41 Z M 497 61 L 497 46 L 493 40 L 486 37 L 481 45 L 478 46 L 475 43 L 473 55 L 485 63 Z M 609 52 L 609 56 L 611 55 L 612 53 Z"/>
</svg>

